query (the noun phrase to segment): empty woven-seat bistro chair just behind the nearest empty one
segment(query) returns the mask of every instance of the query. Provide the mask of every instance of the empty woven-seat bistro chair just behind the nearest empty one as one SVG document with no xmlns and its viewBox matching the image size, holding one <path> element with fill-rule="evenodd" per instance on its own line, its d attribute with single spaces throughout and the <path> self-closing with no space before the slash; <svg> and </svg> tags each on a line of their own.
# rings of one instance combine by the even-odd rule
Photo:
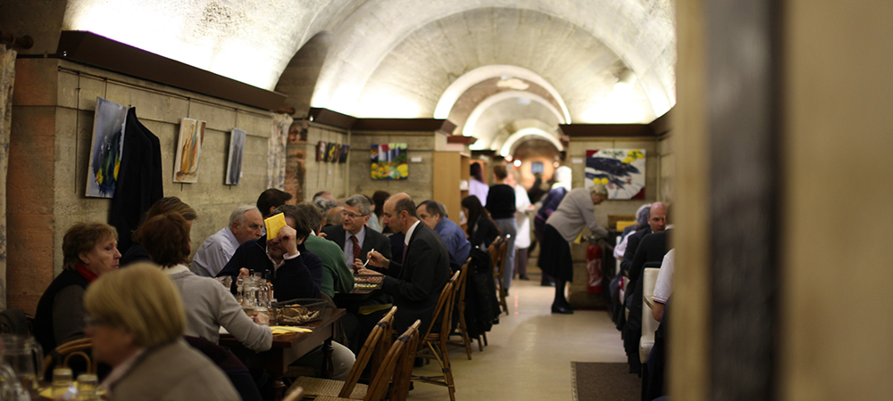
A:
<svg viewBox="0 0 893 401">
<path fill-rule="evenodd" d="M 396 307 L 391 307 L 390 311 L 388 311 L 388 313 L 381 318 L 379 323 L 375 324 L 375 327 L 372 328 L 369 337 L 367 337 L 366 342 L 363 343 L 363 348 L 361 348 L 360 352 L 356 355 L 356 361 L 350 368 L 346 381 L 334 381 L 331 379 L 301 376 L 292 383 L 289 390 L 303 388 L 304 395 L 311 397 L 331 396 L 353 399 L 361 399 L 365 397 L 366 392 L 368 391 L 368 386 L 358 383 L 360 374 L 363 373 L 366 364 L 369 364 L 369 361 L 375 353 L 375 350 L 378 349 L 379 344 L 384 342 L 382 339 L 384 339 L 386 335 L 388 338 L 390 337 L 391 325 L 394 323 L 394 314 L 396 314 Z M 374 370 L 372 374 L 375 374 Z"/>
</svg>

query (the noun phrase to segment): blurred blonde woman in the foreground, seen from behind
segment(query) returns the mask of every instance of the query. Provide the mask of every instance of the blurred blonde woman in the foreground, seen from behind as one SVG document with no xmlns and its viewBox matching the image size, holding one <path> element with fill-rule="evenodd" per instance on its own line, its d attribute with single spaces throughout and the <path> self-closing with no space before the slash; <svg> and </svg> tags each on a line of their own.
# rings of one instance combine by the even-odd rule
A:
<svg viewBox="0 0 893 401">
<path fill-rule="evenodd" d="M 113 367 L 103 381 L 109 399 L 240 399 L 223 372 L 181 339 L 179 291 L 156 267 L 137 264 L 100 277 L 84 307 L 93 356 Z"/>
</svg>

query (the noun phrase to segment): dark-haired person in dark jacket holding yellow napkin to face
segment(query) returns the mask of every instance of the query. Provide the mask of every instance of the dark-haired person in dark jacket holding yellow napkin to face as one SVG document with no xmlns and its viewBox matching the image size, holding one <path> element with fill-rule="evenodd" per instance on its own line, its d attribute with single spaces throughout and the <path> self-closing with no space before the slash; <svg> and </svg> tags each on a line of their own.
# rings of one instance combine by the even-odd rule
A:
<svg viewBox="0 0 893 401">
<path fill-rule="evenodd" d="M 218 277 L 229 275 L 233 281 L 239 275 L 247 275 L 248 269 L 263 272 L 273 284 L 273 291 L 280 301 L 289 299 L 318 299 L 322 287 L 322 260 L 307 251 L 304 241 L 310 234 L 304 214 L 295 205 L 282 205 L 272 216 L 285 214 L 286 225 L 276 238 L 267 241 L 246 241 L 238 246 L 230 262 Z M 236 285 L 232 286 L 235 293 Z"/>
</svg>

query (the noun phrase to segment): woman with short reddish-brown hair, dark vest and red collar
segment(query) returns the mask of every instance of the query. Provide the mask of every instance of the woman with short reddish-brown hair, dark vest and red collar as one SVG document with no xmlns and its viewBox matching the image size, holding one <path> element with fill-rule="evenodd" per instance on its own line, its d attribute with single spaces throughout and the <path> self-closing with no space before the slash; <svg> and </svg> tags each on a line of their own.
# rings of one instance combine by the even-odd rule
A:
<svg viewBox="0 0 893 401">
<path fill-rule="evenodd" d="M 46 352 L 84 337 L 84 291 L 118 268 L 118 233 L 111 225 L 78 223 L 65 233 L 63 271 L 38 301 L 34 334 Z"/>
</svg>

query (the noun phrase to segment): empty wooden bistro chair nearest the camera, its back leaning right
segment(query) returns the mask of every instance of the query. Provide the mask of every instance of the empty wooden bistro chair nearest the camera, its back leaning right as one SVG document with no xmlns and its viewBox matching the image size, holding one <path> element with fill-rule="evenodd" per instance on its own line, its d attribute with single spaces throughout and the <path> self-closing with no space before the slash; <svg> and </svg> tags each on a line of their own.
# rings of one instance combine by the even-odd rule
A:
<svg viewBox="0 0 893 401">
<path fill-rule="evenodd" d="M 388 348 L 388 354 L 385 355 L 384 361 L 381 364 L 381 369 L 372 376 L 372 380 L 369 383 L 369 390 L 366 391 L 366 395 L 362 399 L 363 401 L 380 401 L 385 397 L 385 393 L 388 392 L 388 387 L 391 387 L 391 380 L 394 379 L 395 385 L 391 390 L 390 400 L 393 401 L 403 401 L 404 397 L 400 397 L 400 394 L 403 394 L 403 390 L 405 389 L 405 393 L 409 392 L 409 384 L 408 380 L 401 381 L 400 378 L 396 376 L 395 372 L 403 372 L 397 370 L 398 365 L 405 365 L 406 361 L 409 361 L 409 367 L 412 369 L 414 347 L 413 342 L 418 342 L 419 338 L 419 325 L 420 321 L 415 321 L 409 329 L 407 329 L 403 335 L 398 337 L 391 347 Z M 413 340 L 415 339 L 415 340 Z M 397 394 L 397 389 L 399 389 L 400 394 Z M 342 397 L 330 397 L 330 396 L 320 396 L 316 397 L 316 401 L 350 401 L 355 398 L 342 398 Z"/>
</svg>

